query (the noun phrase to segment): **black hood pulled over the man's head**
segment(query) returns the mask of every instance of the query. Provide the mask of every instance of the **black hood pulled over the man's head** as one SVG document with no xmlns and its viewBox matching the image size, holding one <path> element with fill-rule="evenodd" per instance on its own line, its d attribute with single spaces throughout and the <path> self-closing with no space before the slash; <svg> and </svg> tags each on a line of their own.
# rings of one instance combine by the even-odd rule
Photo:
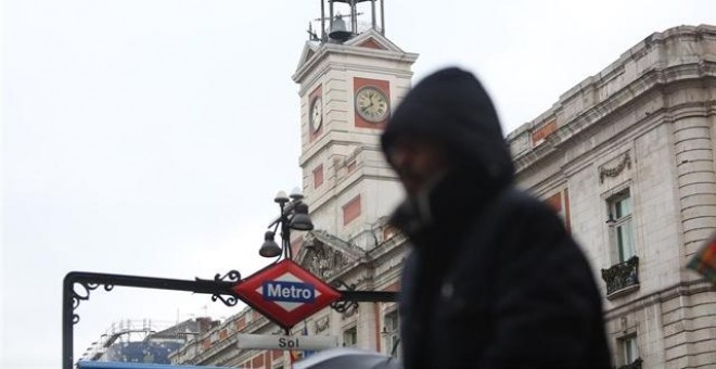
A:
<svg viewBox="0 0 716 369">
<path fill-rule="evenodd" d="M 442 142 L 456 167 L 483 184 L 503 188 L 514 167 L 490 98 L 477 78 L 457 67 L 440 69 L 417 84 L 395 110 L 381 137 L 387 153 L 398 136 Z"/>
</svg>

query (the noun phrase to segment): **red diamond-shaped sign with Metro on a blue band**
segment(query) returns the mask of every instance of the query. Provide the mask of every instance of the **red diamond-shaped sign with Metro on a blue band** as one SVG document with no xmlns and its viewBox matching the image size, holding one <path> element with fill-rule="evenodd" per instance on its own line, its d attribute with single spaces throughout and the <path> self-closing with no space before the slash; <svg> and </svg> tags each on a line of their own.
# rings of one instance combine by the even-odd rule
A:
<svg viewBox="0 0 716 369">
<path fill-rule="evenodd" d="M 289 259 L 247 277 L 233 292 L 284 329 L 341 298 L 338 291 Z"/>
</svg>

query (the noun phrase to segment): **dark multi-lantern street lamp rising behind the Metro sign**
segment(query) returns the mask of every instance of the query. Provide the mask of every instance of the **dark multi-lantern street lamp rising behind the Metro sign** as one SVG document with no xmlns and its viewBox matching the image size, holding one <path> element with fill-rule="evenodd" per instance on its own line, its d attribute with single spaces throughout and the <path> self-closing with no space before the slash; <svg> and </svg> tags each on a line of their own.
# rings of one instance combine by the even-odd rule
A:
<svg viewBox="0 0 716 369">
<path fill-rule="evenodd" d="M 279 258 L 283 255 L 287 259 L 292 258 L 291 230 L 308 231 L 314 229 L 314 224 L 308 216 L 308 205 L 302 202 L 303 199 L 304 195 L 298 188 L 295 188 L 289 196 L 285 192 L 279 191 L 273 202 L 279 204 L 281 214 L 268 226 L 269 229 L 264 234 L 264 243 L 258 250 L 259 255 Z M 281 245 L 273 240 L 279 227 L 281 227 Z"/>
</svg>

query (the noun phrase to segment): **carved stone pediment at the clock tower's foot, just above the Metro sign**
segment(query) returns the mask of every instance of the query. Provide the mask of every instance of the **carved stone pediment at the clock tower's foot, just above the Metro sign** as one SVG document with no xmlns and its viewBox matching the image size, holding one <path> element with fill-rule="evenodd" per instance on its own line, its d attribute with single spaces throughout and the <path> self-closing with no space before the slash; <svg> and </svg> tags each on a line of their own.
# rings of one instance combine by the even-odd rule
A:
<svg viewBox="0 0 716 369">
<path fill-rule="evenodd" d="M 305 234 L 296 263 L 315 276 L 329 280 L 362 255 L 360 249 L 342 239 L 324 230 L 312 230 Z"/>
</svg>

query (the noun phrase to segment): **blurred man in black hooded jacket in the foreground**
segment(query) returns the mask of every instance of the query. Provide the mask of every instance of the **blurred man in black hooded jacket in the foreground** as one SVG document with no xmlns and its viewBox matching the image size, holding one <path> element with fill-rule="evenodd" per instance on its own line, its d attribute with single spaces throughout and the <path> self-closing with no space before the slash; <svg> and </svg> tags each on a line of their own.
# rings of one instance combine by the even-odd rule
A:
<svg viewBox="0 0 716 369">
<path fill-rule="evenodd" d="M 406 368 L 610 368 L 601 297 L 559 216 L 516 190 L 493 103 L 451 67 L 406 96 L 381 137 L 413 250 L 399 311 Z"/>
</svg>

